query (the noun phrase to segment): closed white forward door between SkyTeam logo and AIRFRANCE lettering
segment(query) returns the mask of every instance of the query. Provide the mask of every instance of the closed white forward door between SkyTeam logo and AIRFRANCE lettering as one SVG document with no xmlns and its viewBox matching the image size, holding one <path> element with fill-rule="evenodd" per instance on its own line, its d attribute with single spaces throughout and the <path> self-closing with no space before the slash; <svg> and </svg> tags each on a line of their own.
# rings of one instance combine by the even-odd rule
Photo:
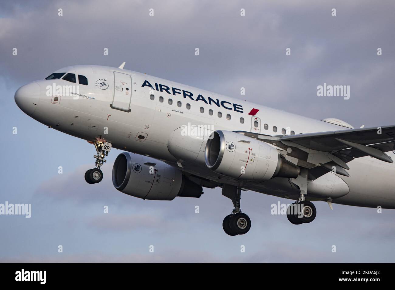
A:
<svg viewBox="0 0 395 290">
<path fill-rule="evenodd" d="M 132 99 L 132 77 L 126 73 L 114 71 L 114 97 L 111 108 L 130 112 Z"/>
</svg>

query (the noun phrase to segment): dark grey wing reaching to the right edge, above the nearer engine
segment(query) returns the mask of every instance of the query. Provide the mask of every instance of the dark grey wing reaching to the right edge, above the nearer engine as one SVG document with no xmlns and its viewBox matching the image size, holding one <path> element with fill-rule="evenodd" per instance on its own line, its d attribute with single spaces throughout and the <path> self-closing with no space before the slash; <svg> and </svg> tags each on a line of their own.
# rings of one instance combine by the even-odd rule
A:
<svg viewBox="0 0 395 290">
<path fill-rule="evenodd" d="M 307 168 L 311 180 L 334 167 L 337 174 L 350 176 L 346 163 L 363 156 L 393 163 L 385 152 L 395 150 L 395 125 L 284 136 L 239 133 L 275 146 L 288 161 Z"/>
</svg>

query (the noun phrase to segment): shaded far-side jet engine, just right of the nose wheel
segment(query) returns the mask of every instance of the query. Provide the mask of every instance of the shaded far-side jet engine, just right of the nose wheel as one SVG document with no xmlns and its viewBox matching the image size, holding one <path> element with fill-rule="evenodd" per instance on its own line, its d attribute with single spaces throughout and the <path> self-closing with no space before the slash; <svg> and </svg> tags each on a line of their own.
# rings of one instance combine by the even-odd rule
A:
<svg viewBox="0 0 395 290">
<path fill-rule="evenodd" d="M 163 161 L 122 152 L 113 166 L 113 185 L 122 193 L 151 200 L 197 197 L 203 188 L 185 178 L 180 170 Z"/>
</svg>

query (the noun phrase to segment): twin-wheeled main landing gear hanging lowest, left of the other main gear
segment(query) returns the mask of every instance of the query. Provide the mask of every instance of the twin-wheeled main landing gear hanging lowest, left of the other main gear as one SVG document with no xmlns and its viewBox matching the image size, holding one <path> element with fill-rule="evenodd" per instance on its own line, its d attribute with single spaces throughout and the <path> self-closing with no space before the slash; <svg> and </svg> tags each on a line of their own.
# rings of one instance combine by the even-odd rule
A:
<svg viewBox="0 0 395 290">
<path fill-rule="evenodd" d="M 246 234 L 251 228 L 251 220 L 240 210 L 240 187 L 224 184 L 222 195 L 230 198 L 235 207 L 230 215 L 227 215 L 222 222 L 222 228 L 229 236 Z"/>
</svg>

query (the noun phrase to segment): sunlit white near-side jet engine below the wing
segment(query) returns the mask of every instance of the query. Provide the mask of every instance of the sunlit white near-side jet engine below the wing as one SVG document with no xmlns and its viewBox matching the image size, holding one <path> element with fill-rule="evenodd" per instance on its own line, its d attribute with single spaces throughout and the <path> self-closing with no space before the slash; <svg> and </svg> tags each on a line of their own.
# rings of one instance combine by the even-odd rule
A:
<svg viewBox="0 0 395 290">
<path fill-rule="evenodd" d="M 231 131 L 214 131 L 205 147 L 207 167 L 241 180 L 297 178 L 300 168 L 280 157 L 266 142 Z"/>
</svg>

